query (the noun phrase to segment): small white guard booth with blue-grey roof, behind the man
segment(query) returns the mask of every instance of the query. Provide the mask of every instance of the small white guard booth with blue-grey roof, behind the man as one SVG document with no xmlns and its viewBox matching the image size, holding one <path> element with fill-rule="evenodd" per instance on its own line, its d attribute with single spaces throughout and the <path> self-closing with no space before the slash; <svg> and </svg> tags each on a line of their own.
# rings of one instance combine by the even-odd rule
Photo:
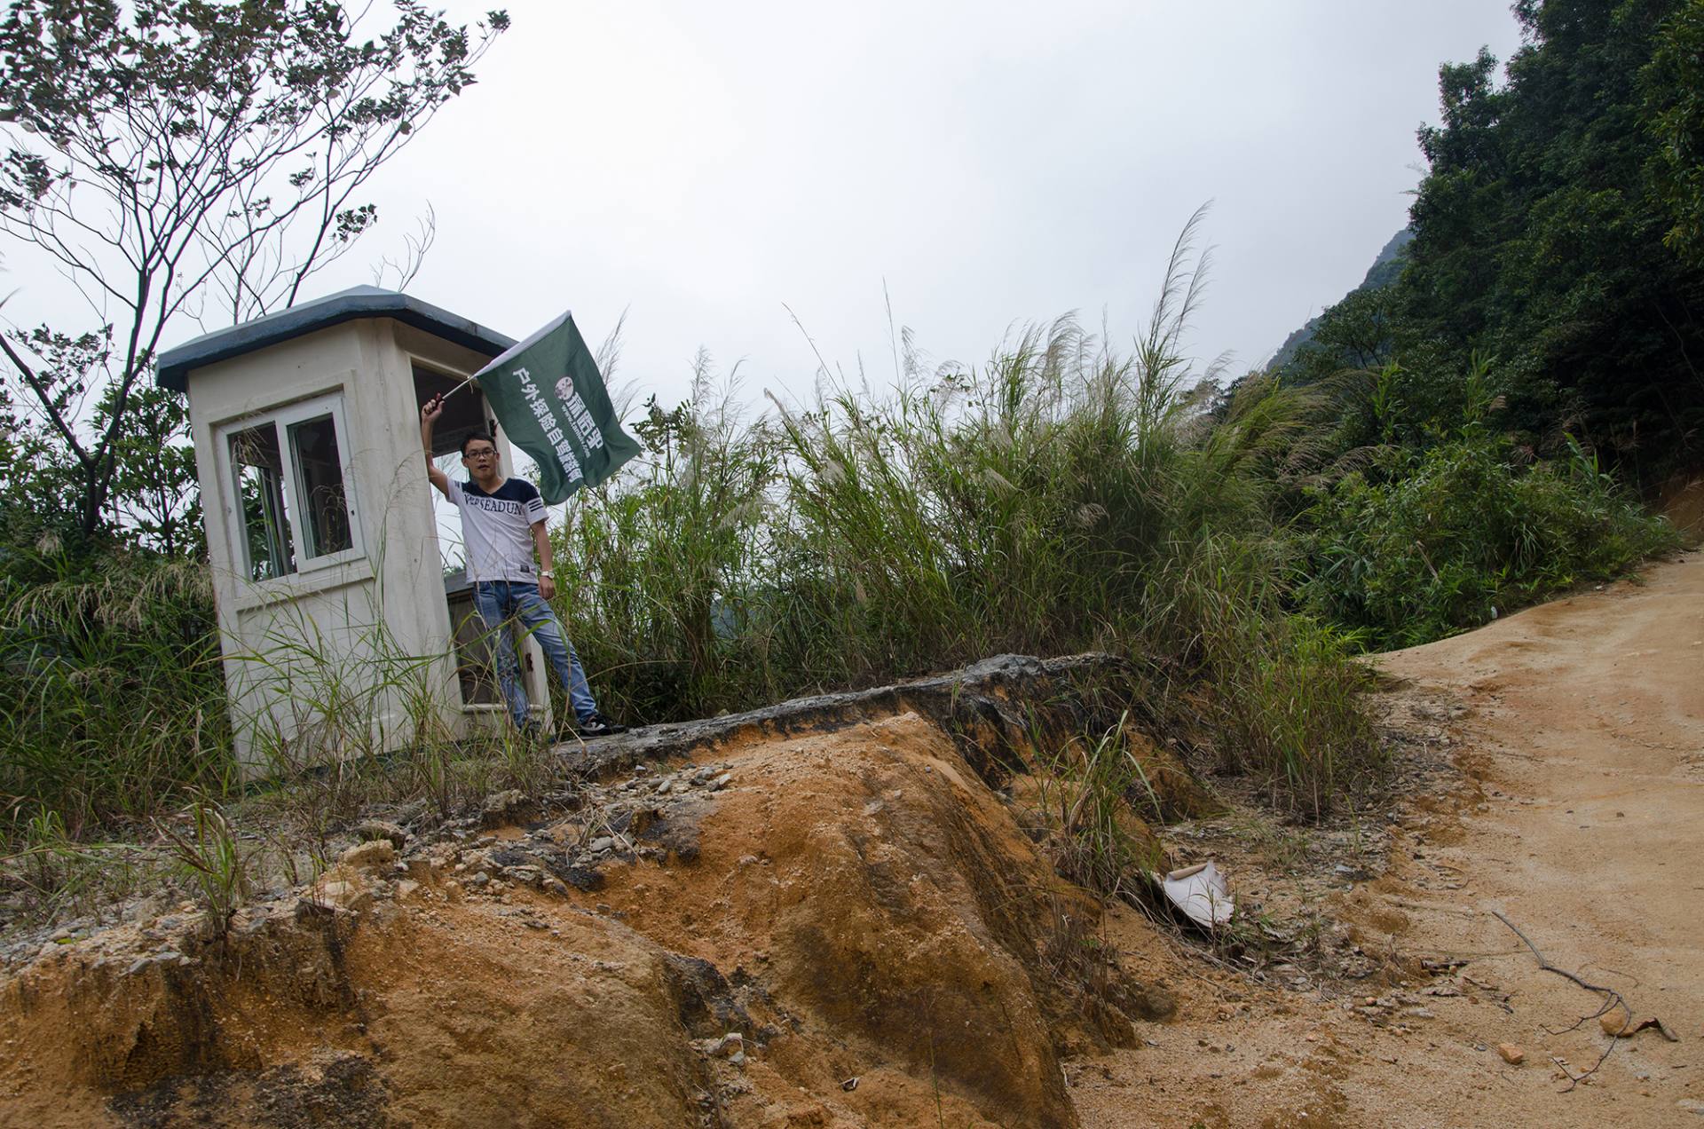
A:
<svg viewBox="0 0 1704 1129">
<path fill-rule="evenodd" d="M 189 397 L 237 754 L 247 776 L 504 725 L 458 530 L 426 479 L 419 406 L 515 341 L 356 287 L 196 338 L 157 365 Z M 433 455 L 491 431 L 457 392 Z M 498 433 L 503 469 L 513 450 Z M 438 507 L 435 512 L 435 505 Z M 455 530 L 440 544 L 441 529 Z M 544 655 L 521 677 L 549 725 Z"/>
</svg>

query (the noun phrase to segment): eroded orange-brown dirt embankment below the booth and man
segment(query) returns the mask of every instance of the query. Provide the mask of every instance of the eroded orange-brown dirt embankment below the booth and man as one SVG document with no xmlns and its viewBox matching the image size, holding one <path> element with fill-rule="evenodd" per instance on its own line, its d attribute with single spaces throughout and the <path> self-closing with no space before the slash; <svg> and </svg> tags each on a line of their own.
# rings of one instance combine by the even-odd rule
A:
<svg viewBox="0 0 1704 1129">
<path fill-rule="evenodd" d="M 1068 674 L 600 744 L 576 810 L 390 829 L 220 936 L 48 945 L 0 986 L 0 1120 L 1075 1124 L 1060 1052 L 1171 1003 L 987 779 L 1082 721 Z"/>
</svg>

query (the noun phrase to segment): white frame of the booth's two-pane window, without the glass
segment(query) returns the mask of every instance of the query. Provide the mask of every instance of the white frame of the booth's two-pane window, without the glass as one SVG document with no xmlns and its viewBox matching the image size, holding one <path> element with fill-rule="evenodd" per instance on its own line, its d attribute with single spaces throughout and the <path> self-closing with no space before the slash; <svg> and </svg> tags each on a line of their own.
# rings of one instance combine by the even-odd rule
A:
<svg viewBox="0 0 1704 1129">
<path fill-rule="evenodd" d="M 295 443 L 291 442 L 290 428 L 298 423 L 307 423 L 310 420 L 319 420 L 331 416 L 332 438 L 337 443 L 337 467 L 343 474 L 343 505 L 349 520 L 349 547 L 339 549 L 337 553 L 327 553 L 322 556 L 307 556 L 308 547 L 314 544 L 308 525 L 307 513 L 303 507 L 307 498 L 303 496 L 303 478 L 302 466 L 296 460 Z M 354 466 L 351 462 L 351 443 L 348 416 L 344 413 L 344 394 L 343 389 L 334 392 L 324 392 L 308 399 L 296 401 L 293 404 L 285 404 L 279 408 L 268 408 L 262 411 L 252 411 L 239 420 L 228 420 L 215 428 L 215 445 L 218 449 L 220 459 L 220 476 L 223 479 L 223 488 L 228 491 L 225 501 L 227 541 L 232 549 L 232 563 L 242 570 L 244 576 L 254 576 L 254 561 L 249 559 L 249 529 L 247 517 L 242 508 L 242 483 L 237 479 L 239 464 L 232 457 L 230 440 L 233 435 L 249 431 L 259 426 L 273 426 L 278 435 L 278 455 L 279 455 L 279 478 L 283 481 L 285 493 L 285 512 L 290 518 L 290 539 L 291 549 L 295 551 L 295 571 L 279 573 L 276 576 L 268 576 L 266 580 L 250 580 L 250 583 L 271 587 L 271 585 L 290 585 L 291 576 L 308 576 L 325 568 L 336 568 L 337 564 L 348 564 L 351 561 L 360 561 L 366 558 L 366 542 L 361 537 L 360 522 L 360 500 L 356 498 L 354 484 Z"/>
</svg>

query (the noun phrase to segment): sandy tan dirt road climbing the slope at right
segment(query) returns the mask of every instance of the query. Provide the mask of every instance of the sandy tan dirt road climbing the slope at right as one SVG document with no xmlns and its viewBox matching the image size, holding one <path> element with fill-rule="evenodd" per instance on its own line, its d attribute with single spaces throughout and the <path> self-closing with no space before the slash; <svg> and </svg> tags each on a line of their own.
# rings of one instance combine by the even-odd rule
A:
<svg viewBox="0 0 1704 1129">
<path fill-rule="evenodd" d="M 1704 1126 L 1704 556 L 1380 667 L 1399 704 L 1454 715 L 1457 769 L 1327 907 L 1382 970 L 1251 989 L 1120 911 L 1183 1006 L 1067 1066 L 1084 1126 Z M 1612 1040 L 1603 998 L 1493 911 L 1678 1042 Z"/>
</svg>

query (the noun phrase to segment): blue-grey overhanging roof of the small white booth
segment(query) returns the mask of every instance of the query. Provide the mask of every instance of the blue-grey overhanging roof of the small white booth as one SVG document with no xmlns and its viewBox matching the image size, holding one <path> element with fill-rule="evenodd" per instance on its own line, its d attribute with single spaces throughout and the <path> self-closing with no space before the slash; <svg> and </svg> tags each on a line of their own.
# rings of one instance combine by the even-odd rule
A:
<svg viewBox="0 0 1704 1129">
<path fill-rule="evenodd" d="M 290 341 L 291 338 L 300 338 L 358 317 L 394 317 L 406 326 L 424 329 L 429 334 L 475 353 L 484 353 L 486 356 L 498 356 L 515 344 L 515 338 L 487 329 L 460 314 L 452 314 L 419 298 L 411 298 L 406 293 L 380 290 L 378 287 L 351 287 L 349 290 L 329 293 L 324 298 L 291 305 L 288 310 L 256 317 L 230 329 L 216 329 L 194 341 L 184 341 L 160 353 L 153 380 L 162 389 L 182 392 L 189 387 L 191 368 L 203 368 L 222 360 L 230 360 L 232 356 L 242 356 L 244 353 L 264 350 L 269 344 L 279 344 L 281 341 Z"/>
</svg>

